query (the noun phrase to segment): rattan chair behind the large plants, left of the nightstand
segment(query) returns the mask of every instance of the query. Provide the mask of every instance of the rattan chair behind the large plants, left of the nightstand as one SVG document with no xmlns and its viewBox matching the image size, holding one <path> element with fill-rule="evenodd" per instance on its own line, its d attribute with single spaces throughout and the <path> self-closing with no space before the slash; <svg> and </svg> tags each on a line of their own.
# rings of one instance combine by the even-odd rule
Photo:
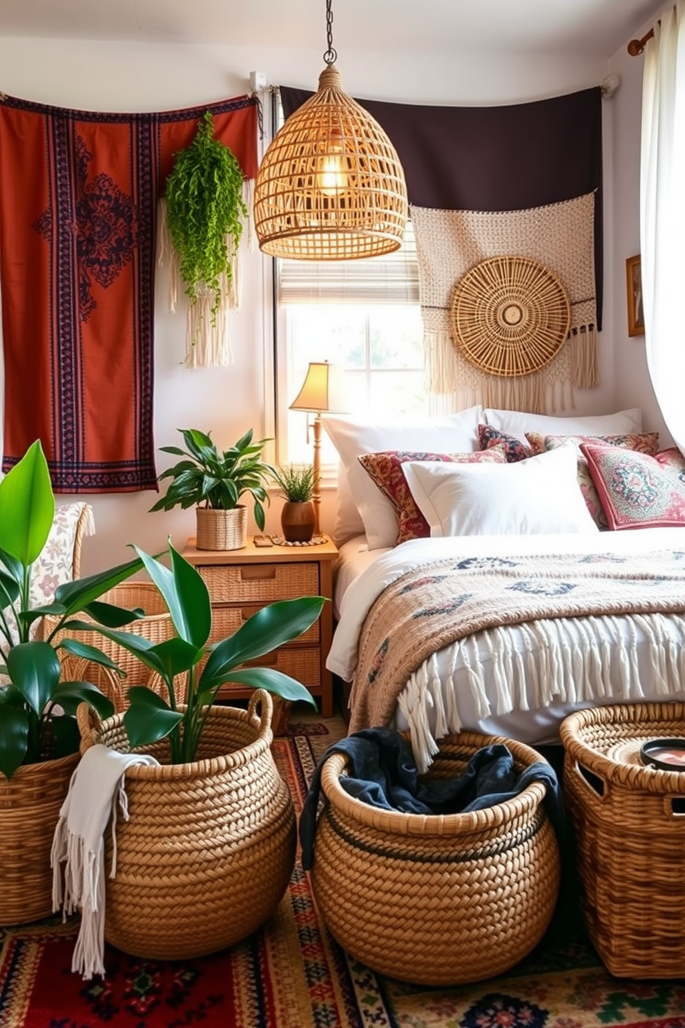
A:
<svg viewBox="0 0 685 1028">
<path fill-rule="evenodd" d="M 120 585 L 110 589 L 109 592 L 106 592 L 102 596 L 102 600 L 129 610 L 140 607 L 145 611 L 144 618 L 124 625 L 122 631 L 142 635 L 154 644 L 163 642 L 165 639 L 173 638 L 176 634 L 172 616 L 157 586 L 152 582 L 122 582 Z M 85 615 L 81 615 L 79 620 L 87 621 L 88 618 Z M 43 619 L 41 628 L 43 638 L 49 634 L 58 622 L 59 618 L 53 616 L 47 616 Z M 67 631 L 59 632 L 54 636 L 53 645 L 62 636 L 75 638 L 79 642 L 97 647 L 98 650 L 111 657 L 125 675 L 121 677 L 116 671 L 112 671 L 108 667 L 103 667 L 93 661 L 83 657 L 75 657 L 73 654 L 68 654 L 60 650 L 59 657 L 63 669 L 62 676 L 65 681 L 92 682 L 93 685 L 98 686 L 112 700 L 115 710 L 123 710 L 126 707 L 126 690 L 129 686 L 148 686 L 163 696 L 164 699 L 168 700 L 166 686 L 160 675 L 150 670 L 149 667 L 146 667 L 138 657 L 128 653 L 123 647 L 106 638 L 101 632 L 71 632 L 67 629 Z M 175 685 L 177 700 L 181 702 L 185 688 L 185 675 L 180 675 Z"/>
</svg>

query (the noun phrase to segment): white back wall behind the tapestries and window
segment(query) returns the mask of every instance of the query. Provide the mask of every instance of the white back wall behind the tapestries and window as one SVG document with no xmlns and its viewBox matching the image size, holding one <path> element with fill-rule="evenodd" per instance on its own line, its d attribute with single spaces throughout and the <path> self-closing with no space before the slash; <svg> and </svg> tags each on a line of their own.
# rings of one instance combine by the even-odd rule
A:
<svg viewBox="0 0 685 1028">
<path fill-rule="evenodd" d="M 319 50 L 215 47 L 180 44 L 131 44 L 77 40 L 0 38 L 2 88 L 16 97 L 48 104 L 91 110 L 151 111 L 190 107 L 249 90 L 252 70 L 266 73 L 273 84 L 314 88 L 324 65 Z M 599 84 L 608 62 L 586 54 L 550 58 L 502 53 L 340 53 L 338 67 L 345 88 L 358 97 L 397 102 L 444 104 L 500 104 L 542 99 Z M 66 69 L 69 73 L 66 74 Z M 626 76 L 627 77 L 627 76 Z M 630 87 L 605 105 L 605 131 L 611 146 L 605 164 L 607 231 L 617 222 L 618 256 L 607 260 L 605 319 L 601 335 L 602 384 L 578 393 L 580 413 L 599 413 L 615 406 L 644 405 L 649 390 L 644 368 L 636 362 L 636 379 L 622 360 L 627 346 L 641 354 L 640 342 L 623 339 L 624 324 L 614 318 L 621 294 L 622 256 L 636 251 L 635 238 L 623 238 L 623 223 L 614 214 L 611 172 L 618 180 L 617 205 L 623 203 L 623 177 L 634 174 L 635 155 L 622 138 L 624 122 L 634 120 Z M 613 110 L 620 101 L 621 119 L 613 132 Z M 632 131 L 632 130 L 631 130 Z M 605 145 L 606 150 L 606 145 Z M 632 166 L 624 167 L 625 159 Z M 516 159 L 516 154 L 512 154 Z M 632 195 L 631 189 L 629 192 Z M 619 231 L 620 229 L 620 231 Z M 627 229 L 625 229 L 627 231 Z M 611 252 L 607 237 L 607 250 Z M 184 354 L 184 317 L 167 313 L 166 282 L 157 282 L 155 325 L 155 443 L 178 444 L 177 428 L 212 430 L 220 444 L 229 444 L 249 427 L 264 433 L 265 374 L 263 339 L 268 311 L 264 303 L 264 264 L 261 255 L 243 252 L 242 306 L 232 315 L 235 363 L 225 369 L 190 371 L 181 366 Z M 616 309 L 624 313 L 623 305 Z M 617 357 L 614 360 L 614 339 Z M 642 360 L 642 357 L 640 358 Z M 629 402 L 630 401 L 630 402 Z M 649 417 L 655 411 L 650 409 Z M 650 425 L 651 427 L 651 425 Z M 160 455 L 158 471 L 168 461 Z M 66 500 L 67 498 L 60 498 Z M 156 499 L 152 491 L 88 498 L 96 512 L 97 535 L 86 541 L 83 573 L 125 559 L 125 545 L 135 542 L 148 550 L 162 549 L 167 535 L 183 545 L 194 533 L 191 511 L 148 514 Z M 267 528 L 278 526 L 280 502 L 275 500 Z M 332 527 L 333 495 L 325 497 L 324 528 Z"/>
</svg>

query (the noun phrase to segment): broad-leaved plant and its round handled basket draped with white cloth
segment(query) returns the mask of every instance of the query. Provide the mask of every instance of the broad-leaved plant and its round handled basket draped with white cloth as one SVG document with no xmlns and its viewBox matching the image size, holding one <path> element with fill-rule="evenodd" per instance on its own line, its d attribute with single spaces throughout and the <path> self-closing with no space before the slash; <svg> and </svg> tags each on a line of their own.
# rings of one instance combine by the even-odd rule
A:
<svg viewBox="0 0 685 1028">
<path fill-rule="evenodd" d="M 313 701 L 300 683 L 255 662 L 306 631 L 325 599 L 271 603 L 228 638 L 210 644 L 212 607 L 201 575 L 172 545 L 168 567 L 136 552 L 164 598 L 177 635 L 153 645 L 130 632 L 98 629 L 166 686 L 166 698 L 131 686 L 123 714 L 100 727 L 84 725 L 86 746 L 143 747 L 162 762 L 126 773 L 129 819 L 117 824 L 105 938 L 138 956 L 190 958 L 254 931 L 287 888 L 295 814 L 271 756 L 269 693 Z M 176 698 L 179 675 L 186 680 L 183 705 Z M 248 711 L 215 703 L 227 683 L 257 690 Z"/>
</svg>

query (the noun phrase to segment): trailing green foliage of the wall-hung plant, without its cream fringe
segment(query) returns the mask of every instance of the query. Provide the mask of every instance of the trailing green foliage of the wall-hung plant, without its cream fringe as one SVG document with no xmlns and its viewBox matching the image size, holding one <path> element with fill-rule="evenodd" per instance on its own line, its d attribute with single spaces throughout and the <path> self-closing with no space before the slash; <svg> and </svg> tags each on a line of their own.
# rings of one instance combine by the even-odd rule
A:
<svg viewBox="0 0 685 1028">
<path fill-rule="evenodd" d="M 191 303 L 202 284 L 212 294 L 213 325 L 222 300 L 222 276 L 230 284 L 246 215 L 242 171 L 229 147 L 215 139 L 212 114 L 205 111 L 195 139 L 179 151 L 166 180 L 166 225 Z"/>
</svg>

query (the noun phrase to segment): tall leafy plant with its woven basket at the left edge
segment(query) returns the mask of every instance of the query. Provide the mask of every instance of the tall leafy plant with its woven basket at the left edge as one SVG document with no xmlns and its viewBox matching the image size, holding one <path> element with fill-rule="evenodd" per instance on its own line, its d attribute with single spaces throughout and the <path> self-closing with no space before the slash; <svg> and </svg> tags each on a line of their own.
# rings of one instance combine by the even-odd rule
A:
<svg viewBox="0 0 685 1028">
<path fill-rule="evenodd" d="M 52 603 L 32 609 L 32 571 L 53 516 L 47 464 L 35 442 L 0 482 L 0 924 L 51 912 L 50 844 L 78 762 L 76 708 L 85 701 L 102 715 L 113 710 L 91 683 L 63 681 L 58 651 L 116 665 L 62 629 L 76 613 L 109 627 L 142 613 L 99 600 L 142 566 L 140 558 L 60 585 Z M 46 614 L 54 631 L 41 638 L 36 623 Z"/>
</svg>

